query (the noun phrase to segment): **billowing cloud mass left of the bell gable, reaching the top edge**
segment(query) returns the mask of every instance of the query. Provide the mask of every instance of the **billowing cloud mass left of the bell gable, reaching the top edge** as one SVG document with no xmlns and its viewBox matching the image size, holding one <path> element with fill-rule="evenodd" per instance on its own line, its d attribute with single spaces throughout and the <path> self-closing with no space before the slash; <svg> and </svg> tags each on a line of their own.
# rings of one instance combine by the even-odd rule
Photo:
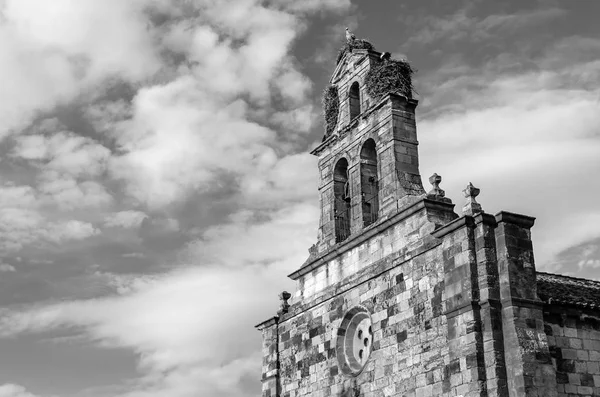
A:
<svg viewBox="0 0 600 397">
<path fill-rule="evenodd" d="M 139 90 L 131 118 L 114 123 L 122 154 L 110 169 L 128 194 L 157 209 L 221 189 L 223 178 L 243 181 L 278 161 L 273 147 L 296 138 L 276 127 L 310 128 L 312 87 L 289 50 L 304 29 L 300 11 L 313 8 L 289 6 L 294 13 L 286 4 L 245 1 L 232 11 L 214 3 L 202 8 L 204 24 L 169 25 L 164 43 L 190 64 L 174 79 Z M 101 114 L 94 111 L 105 120 Z"/>
</svg>

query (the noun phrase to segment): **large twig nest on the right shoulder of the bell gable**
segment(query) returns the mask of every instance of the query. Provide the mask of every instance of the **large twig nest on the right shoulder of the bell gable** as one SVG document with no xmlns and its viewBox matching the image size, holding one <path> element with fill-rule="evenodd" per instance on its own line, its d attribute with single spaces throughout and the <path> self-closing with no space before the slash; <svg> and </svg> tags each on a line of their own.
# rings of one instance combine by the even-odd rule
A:
<svg viewBox="0 0 600 397">
<path fill-rule="evenodd" d="M 415 70 L 405 60 L 384 59 L 365 76 L 367 93 L 375 100 L 393 93 L 412 98 L 416 93 L 412 84 Z"/>
</svg>

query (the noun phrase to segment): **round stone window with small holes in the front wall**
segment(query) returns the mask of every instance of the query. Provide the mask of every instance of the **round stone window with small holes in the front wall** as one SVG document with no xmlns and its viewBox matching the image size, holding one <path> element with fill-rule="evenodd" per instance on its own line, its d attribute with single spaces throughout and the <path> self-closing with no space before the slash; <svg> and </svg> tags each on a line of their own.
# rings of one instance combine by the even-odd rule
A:
<svg viewBox="0 0 600 397">
<path fill-rule="evenodd" d="M 336 355 L 341 372 L 353 376 L 360 374 L 369 359 L 372 345 L 371 315 L 363 307 L 349 310 L 337 334 Z"/>
</svg>

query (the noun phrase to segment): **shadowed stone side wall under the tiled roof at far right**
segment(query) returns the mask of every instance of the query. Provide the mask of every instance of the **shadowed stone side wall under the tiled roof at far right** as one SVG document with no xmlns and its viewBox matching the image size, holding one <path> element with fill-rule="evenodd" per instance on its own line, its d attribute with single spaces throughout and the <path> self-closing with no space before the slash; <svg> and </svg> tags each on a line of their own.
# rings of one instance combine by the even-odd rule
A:
<svg viewBox="0 0 600 397">
<path fill-rule="evenodd" d="M 559 396 L 600 396 L 600 312 L 544 308 L 545 331 Z"/>
</svg>

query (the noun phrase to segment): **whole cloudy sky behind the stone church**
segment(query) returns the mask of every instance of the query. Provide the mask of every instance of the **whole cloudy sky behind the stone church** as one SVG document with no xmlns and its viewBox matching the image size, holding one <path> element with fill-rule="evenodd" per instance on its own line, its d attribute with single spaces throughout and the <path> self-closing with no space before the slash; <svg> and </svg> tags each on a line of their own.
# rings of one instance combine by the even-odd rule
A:
<svg viewBox="0 0 600 397">
<path fill-rule="evenodd" d="M 425 189 L 600 279 L 600 2 L 0 0 L 0 397 L 249 397 L 316 241 L 348 26 L 417 69 Z"/>
</svg>

